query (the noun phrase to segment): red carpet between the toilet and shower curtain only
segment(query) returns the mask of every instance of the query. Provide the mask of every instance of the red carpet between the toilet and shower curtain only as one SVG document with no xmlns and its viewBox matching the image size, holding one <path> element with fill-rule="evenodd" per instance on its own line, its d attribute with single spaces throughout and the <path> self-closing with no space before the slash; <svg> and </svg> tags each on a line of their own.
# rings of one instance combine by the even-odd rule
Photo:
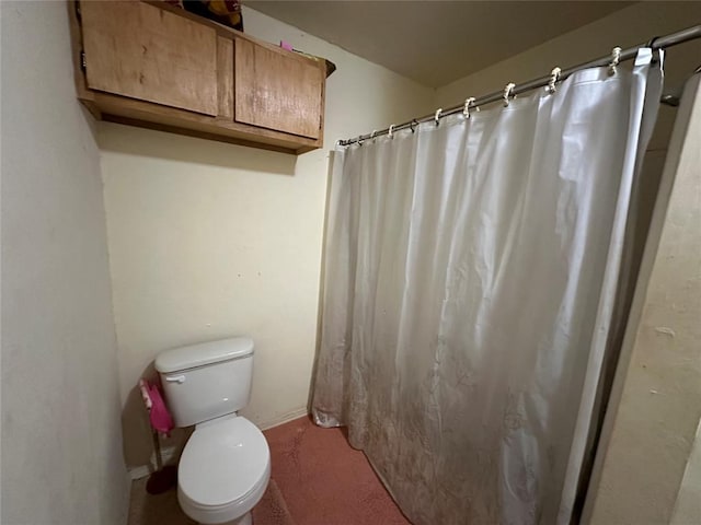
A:
<svg viewBox="0 0 701 525">
<path fill-rule="evenodd" d="M 411 525 L 345 429 L 304 417 L 264 434 L 272 479 L 295 525 Z"/>
</svg>

